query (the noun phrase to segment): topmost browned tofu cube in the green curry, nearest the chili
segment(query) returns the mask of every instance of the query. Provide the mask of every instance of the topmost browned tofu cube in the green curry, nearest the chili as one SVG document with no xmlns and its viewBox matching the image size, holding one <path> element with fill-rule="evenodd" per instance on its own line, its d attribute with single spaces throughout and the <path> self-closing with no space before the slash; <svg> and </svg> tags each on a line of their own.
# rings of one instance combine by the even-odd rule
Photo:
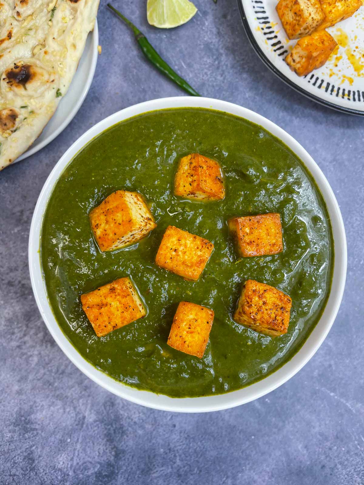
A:
<svg viewBox="0 0 364 485">
<path fill-rule="evenodd" d="M 220 165 L 199 153 L 183 157 L 174 178 L 174 194 L 187 199 L 222 200 L 225 189 Z"/>
</svg>

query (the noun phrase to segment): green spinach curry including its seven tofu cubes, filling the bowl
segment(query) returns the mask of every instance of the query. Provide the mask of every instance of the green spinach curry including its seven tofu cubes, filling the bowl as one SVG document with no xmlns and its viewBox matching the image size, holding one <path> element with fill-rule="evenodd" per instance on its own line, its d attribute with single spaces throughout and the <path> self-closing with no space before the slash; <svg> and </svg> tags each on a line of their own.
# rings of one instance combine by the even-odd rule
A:
<svg viewBox="0 0 364 485">
<path fill-rule="evenodd" d="M 333 241 L 287 146 L 245 119 L 180 108 L 116 124 L 75 156 L 44 214 L 41 261 L 86 360 L 132 387 L 196 397 L 298 352 L 330 293 Z"/>
</svg>

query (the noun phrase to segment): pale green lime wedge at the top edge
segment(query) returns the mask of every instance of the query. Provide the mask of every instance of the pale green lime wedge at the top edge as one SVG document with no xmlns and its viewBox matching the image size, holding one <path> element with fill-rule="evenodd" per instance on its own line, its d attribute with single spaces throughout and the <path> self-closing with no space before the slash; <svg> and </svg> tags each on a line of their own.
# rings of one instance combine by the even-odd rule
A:
<svg viewBox="0 0 364 485">
<path fill-rule="evenodd" d="M 188 0 L 148 0 L 147 18 L 150 25 L 170 29 L 185 24 L 197 12 Z"/>
</svg>

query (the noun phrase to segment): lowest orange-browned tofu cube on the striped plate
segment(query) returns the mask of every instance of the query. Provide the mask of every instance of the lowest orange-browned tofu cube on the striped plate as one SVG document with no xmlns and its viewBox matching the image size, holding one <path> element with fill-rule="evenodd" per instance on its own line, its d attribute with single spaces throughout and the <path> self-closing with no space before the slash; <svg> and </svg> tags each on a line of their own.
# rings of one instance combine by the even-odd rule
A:
<svg viewBox="0 0 364 485">
<path fill-rule="evenodd" d="M 336 45 L 329 32 L 314 32 L 299 39 L 285 61 L 298 76 L 307 76 L 326 63 Z"/>
</svg>

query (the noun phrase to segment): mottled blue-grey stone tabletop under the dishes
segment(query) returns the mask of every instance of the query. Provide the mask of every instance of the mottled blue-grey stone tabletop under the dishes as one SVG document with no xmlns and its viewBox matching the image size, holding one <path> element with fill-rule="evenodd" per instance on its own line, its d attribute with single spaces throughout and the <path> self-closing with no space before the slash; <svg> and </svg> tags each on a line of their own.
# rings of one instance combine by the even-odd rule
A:
<svg viewBox="0 0 364 485">
<path fill-rule="evenodd" d="M 171 31 L 148 26 L 145 0 L 114 1 L 202 95 L 263 114 L 314 157 L 346 225 L 344 300 L 295 377 L 227 411 L 146 409 L 103 390 L 66 358 L 40 318 L 28 273 L 41 187 L 91 125 L 134 103 L 183 94 L 144 61 L 102 0 L 102 55 L 82 108 L 50 145 L 0 175 L 0 483 L 362 485 L 363 118 L 315 104 L 271 74 L 248 44 L 236 0 L 195 0 L 199 13 Z"/>
</svg>

